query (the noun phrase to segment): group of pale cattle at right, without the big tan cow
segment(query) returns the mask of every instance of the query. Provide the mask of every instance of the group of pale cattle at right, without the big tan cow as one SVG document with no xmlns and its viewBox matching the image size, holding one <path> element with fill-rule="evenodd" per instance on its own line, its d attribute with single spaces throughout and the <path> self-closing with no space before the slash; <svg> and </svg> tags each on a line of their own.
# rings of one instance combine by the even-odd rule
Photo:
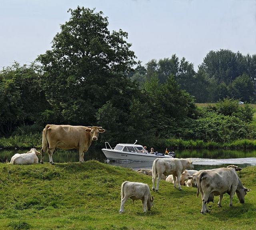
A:
<svg viewBox="0 0 256 230">
<path fill-rule="evenodd" d="M 209 212 L 207 203 L 214 200 L 214 196 L 219 196 L 218 207 L 221 207 L 223 195 L 230 195 L 230 207 L 233 205 L 232 199 L 236 193 L 240 203 L 244 203 L 244 196 L 250 189 L 243 186 L 236 171 L 241 171 L 235 165 L 229 165 L 226 168 L 193 170 L 194 166 L 189 159 L 156 159 L 152 165 L 152 171 L 149 169 L 139 169 L 139 173 L 152 175 L 153 191 L 158 191 L 161 178 L 166 177 L 167 182 L 174 184 L 176 181 L 178 188 L 181 185 L 188 187 L 197 187 L 197 196 L 199 193 L 202 197 L 201 213 Z M 155 188 L 155 180 L 157 184 Z M 143 210 L 146 212 L 146 206 L 150 210 L 153 205 L 153 196 L 150 194 L 148 184 L 125 181 L 121 187 L 121 207 L 120 213 L 124 212 L 124 204 L 128 198 L 132 200 L 142 200 Z M 146 205 L 147 204 L 147 205 Z"/>
</svg>

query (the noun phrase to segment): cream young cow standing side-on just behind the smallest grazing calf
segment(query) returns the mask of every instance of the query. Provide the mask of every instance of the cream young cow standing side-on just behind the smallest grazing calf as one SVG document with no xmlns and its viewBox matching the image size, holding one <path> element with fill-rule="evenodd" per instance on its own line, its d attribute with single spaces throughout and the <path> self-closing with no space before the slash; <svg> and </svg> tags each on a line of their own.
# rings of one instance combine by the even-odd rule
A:
<svg viewBox="0 0 256 230">
<path fill-rule="evenodd" d="M 190 159 L 178 159 L 178 158 L 157 158 L 154 160 L 152 165 L 152 189 L 155 190 L 155 180 L 156 182 L 156 191 L 158 191 L 159 182 L 161 180 L 162 174 L 173 175 L 174 180 L 174 188 L 176 188 L 176 177 L 178 180 L 178 187 L 182 190 L 180 186 L 180 176 L 185 169 L 194 169 L 194 165 L 192 165 L 192 161 Z"/>
</svg>

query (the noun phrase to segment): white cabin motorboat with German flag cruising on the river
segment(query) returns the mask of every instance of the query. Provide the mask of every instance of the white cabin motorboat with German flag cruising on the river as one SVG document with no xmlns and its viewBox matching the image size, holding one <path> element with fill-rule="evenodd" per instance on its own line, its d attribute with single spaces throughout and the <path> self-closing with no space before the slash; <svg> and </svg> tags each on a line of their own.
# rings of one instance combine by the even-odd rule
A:
<svg viewBox="0 0 256 230">
<path fill-rule="evenodd" d="M 136 142 L 134 144 L 120 143 L 114 149 L 108 142 L 105 142 L 106 148 L 102 149 L 102 152 L 108 160 L 154 161 L 156 158 L 173 158 L 175 156 L 173 152 L 170 155 L 157 152 L 150 154 L 142 145 L 136 145 Z"/>
</svg>

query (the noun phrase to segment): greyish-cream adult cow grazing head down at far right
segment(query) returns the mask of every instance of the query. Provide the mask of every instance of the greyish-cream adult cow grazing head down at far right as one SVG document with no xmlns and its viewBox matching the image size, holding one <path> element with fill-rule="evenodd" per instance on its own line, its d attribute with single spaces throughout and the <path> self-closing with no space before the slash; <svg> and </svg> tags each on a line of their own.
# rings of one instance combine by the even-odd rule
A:
<svg viewBox="0 0 256 230">
<path fill-rule="evenodd" d="M 230 195 L 229 206 L 231 207 L 235 192 L 240 203 L 244 203 L 244 196 L 248 191 L 250 190 L 242 185 L 235 169 L 232 167 L 203 171 L 198 176 L 197 196 L 200 192 L 202 196 L 201 213 L 209 212 L 206 203 L 213 202 L 214 196 L 220 196 L 218 207 L 221 207 L 223 194 L 228 193 Z"/>
</svg>

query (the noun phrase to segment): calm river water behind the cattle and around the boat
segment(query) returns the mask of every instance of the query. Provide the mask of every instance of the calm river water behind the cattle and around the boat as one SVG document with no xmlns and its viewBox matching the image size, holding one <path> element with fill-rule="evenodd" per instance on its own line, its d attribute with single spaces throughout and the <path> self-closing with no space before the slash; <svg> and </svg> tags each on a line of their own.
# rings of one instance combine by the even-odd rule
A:
<svg viewBox="0 0 256 230">
<path fill-rule="evenodd" d="M 0 162 L 10 162 L 10 159 L 15 153 L 26 153 L 30 149 L 18 150 L 0 150 Z M 256 151 L 237 151 L 237 150 L 176 150 L 177 158 L 190 158 L 193 161 L 194 169 L 213 169 L 226 167 L 234 164 L 239 167 L 256 165 Z M 84 154 L 84 160 L 98 160 L 106 162 L 106 157 L 99 149 L 90 147 L 87 153 Z M 39 157 L 40 160 L 40 157 Z M 49 162 L 48 154 L 45 156 L 45 161 Z M 58 149 L 53 155 L 55 163 L 62 162 L 78 162 L 79 154 L 76 150 L 60 150 Z M 110 165 L 129 167 L 132 169 L 152 168 L 152 162 L 129 162 L 116 161 L 108 162 Z"/>
</svg>

